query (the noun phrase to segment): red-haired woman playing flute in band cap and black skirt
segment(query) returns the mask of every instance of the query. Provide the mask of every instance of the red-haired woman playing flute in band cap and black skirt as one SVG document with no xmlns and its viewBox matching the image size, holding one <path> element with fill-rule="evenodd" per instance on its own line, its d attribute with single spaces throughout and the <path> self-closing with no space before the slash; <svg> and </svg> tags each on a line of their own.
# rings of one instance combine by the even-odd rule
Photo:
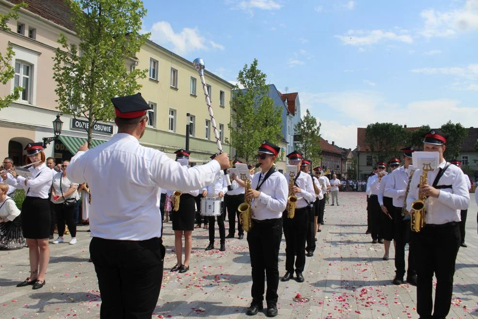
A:
<svg viewBox="0 0 478 319">
<path fill-rule="evenodd" d="M 52 177 L 50 169 L 45 165 L 46 156 L 43 152 L 43 143 L 30 143 L 25 150 L 27 151 L 27 164 L 33 163 L 28 168 L 32 177 L 19 176 L 13 168 L 9 172 L 15 180 L 7 179 L 6 174 L 1 175 L 1 178 L 16 188 L 23 187 L 26 195 L 22 203 L 21 217 L 23 235 L 27 240 L 30 255 L 30 277 L 16 286 L 32 285 L 33 289 L 39 289 L 46 283 L 45 273 L 50 259 L 48 238 L 51 216 L 48 192 Z"/>
</svg>

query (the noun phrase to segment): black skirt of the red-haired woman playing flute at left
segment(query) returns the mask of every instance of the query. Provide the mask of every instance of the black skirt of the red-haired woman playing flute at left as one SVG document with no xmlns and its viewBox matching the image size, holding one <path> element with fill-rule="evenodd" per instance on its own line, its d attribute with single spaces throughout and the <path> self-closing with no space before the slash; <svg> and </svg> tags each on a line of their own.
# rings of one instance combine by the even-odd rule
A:
<svg viewBox="0 0 478 319">
<path fill-rule="evenodd" d="M 47 198 L 27 196 L 22 204 L 21 218 L 25 238 L 49 238 L 51 214 Z"/>
</svg>

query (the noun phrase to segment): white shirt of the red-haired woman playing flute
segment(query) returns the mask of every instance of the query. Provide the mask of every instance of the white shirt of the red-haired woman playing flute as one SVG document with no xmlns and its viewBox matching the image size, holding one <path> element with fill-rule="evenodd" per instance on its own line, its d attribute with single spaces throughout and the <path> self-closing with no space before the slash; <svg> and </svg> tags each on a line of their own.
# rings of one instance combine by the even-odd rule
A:
<svg viewBox="0 0 478 319">
<path fill-rule="evenodd" d="M 42 163 L 35 168 L 33 166 L 28 168 L 28 170 L 32 173 L 32 178 L 17 176 L 16 180 L 7 178 L 4 182 L 16 188 L 23 188 L 26 196 L 48 198 L 52 180 L 50 169 L 45 163 Z M 27 185 L 25 185 L 25 180 Z"/>
</svg>

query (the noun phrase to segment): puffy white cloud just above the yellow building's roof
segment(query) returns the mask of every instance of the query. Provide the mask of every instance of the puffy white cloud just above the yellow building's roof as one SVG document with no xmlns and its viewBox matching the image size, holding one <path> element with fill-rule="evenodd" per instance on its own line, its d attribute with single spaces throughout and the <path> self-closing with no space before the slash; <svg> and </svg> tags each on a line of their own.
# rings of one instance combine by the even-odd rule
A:
<svg viewBox="0 0 478 319">
<path fill-rule="evenodd" d="M 160 45 L 170 46 L 177 54 L 185 54 L 196 50 L 224 50 L 224 46 L 206 39 L 197 27 L 184 28 L 180 33 L 175 33 L 167 21 L 159 21 L 151 27 L 151 40 Z"/>
</svg>

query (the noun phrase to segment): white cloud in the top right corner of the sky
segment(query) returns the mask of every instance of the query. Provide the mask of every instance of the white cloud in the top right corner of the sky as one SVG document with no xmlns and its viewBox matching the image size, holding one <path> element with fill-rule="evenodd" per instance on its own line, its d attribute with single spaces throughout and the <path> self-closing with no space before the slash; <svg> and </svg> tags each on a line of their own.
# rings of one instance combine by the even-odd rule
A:
<svg viewBox="0 0 478 319">
<path fill-rule="evenodd" d="M 418 32 L 424 37 L 453 37 L 460 32 L 478 30 L 478 0 L 467 0 L 458 9 L 435 11 L 426 9 L 420 13 L 424 21 Z"/>
</svg>

